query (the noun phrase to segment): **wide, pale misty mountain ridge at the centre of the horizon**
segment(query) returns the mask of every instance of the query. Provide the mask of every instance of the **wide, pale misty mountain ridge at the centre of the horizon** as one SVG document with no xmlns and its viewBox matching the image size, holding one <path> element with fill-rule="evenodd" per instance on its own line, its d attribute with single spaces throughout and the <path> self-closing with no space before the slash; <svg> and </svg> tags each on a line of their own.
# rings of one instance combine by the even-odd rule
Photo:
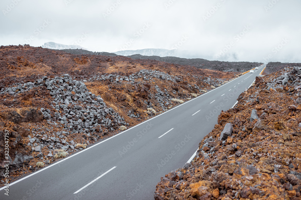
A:
<svg viewBox="0 0 301 200">
<path fill-rule="evenodd" d="M 125 50 L 125 51 L 117 51 L 113 52 L 117 55 L 129 56 L 129 55 L 147 55 L 153 56 L 157 55 L 160 57 L 173 56 L 178 58 L 199 58 L 200 56 L 191 55 L 188 51 L 180 51 L 177 49 L 168 50 L 168 49 L 138 49 L 138 50 Z"/>
</svg>

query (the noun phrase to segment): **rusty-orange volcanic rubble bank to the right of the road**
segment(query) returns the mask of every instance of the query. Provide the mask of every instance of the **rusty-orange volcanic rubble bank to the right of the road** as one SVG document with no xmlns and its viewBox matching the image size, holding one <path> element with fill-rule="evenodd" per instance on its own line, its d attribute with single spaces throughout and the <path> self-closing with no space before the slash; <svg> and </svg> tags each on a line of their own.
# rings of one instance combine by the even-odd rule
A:
<svg viewBox="0 0 301 200">
<path fill-rule="evenodd" d="M 301 199 L 300 81 L 301 67 L 257 77 L 154 199 Z"/>
</svg>

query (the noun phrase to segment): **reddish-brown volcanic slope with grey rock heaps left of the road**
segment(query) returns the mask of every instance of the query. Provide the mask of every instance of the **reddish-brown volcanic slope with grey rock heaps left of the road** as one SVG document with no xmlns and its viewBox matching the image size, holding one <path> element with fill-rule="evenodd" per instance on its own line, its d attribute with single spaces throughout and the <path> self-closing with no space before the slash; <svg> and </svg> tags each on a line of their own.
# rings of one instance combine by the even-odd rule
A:
<svg viewBox="0 0 301 200">
<path fill-rule="evenodd" d="M 13 181 L 237 76 L 124 56 L 1 46 L 1 185 L 4 161 Z"/>
</svg>

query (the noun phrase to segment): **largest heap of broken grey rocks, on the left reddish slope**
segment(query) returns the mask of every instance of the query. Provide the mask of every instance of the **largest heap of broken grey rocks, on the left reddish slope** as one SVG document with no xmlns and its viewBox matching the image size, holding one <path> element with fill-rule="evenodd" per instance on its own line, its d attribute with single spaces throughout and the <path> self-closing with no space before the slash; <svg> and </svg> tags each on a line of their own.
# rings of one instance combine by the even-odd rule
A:
<svg viewBox="0 0 301 200">
<path fill-rule="evenodd" d="M 89 92 L 81 81 L 73 80 L 69 74 L 63 77 L 48 79 L 43 76 L 36 82 L 20 83 L 15 87 L 2 89 L 1 94 L 16 95 L 29 91 L 34 87 L 46 87 L 53 98 L 52 106 L 56 112 L 41 108 L 44 119 L 49 124 L 63 128 L 55 133 L 56 137 L 50 137 L 41 128 L 32 129 L 35 137 L 29 136 L 32 151 L 40 152 L 41 148 L 48 146 L 49 150 L 61 148 L 65 151 L 74 149 L 74 142 L 69 144 L 64 138 L 73 133 L 84 133 L 87 137 L 93 137 L 96 141 L 99 136 L 94 133 L 107 134 L 121 125 L 128 125 L 124 118 L 108 108 L 100 96 Z M 50 153 L 51 154 L 51 153 Z M 52 157 L 52 154 L 48 156 Z M 42 157 L 43 155 L 41 155 Z"/>
</svg>

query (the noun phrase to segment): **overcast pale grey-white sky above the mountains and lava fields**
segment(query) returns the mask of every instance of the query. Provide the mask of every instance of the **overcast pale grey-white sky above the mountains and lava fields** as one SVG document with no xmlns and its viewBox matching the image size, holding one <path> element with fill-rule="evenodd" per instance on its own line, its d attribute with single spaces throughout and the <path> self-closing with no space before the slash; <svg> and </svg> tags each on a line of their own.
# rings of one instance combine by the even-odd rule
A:
<svg viewBox="0 0 301 200">
<path fill-rule="evenodd" d="M 52 41 L 97 52 L 162 48 L 209 60 L 301 62 L 300 0 L 1 0 L 0 7 L 0 45 Z"/>
</svg>

